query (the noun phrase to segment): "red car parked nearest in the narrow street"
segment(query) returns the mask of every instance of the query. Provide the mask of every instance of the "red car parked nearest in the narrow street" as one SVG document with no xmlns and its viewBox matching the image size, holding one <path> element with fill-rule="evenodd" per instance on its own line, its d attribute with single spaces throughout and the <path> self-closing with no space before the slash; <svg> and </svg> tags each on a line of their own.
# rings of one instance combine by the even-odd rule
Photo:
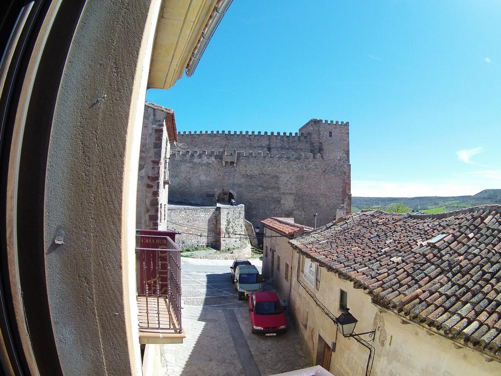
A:
<svg viewBox="0 0 501 376">
<path fill-rule="evenodd" d="M 282 304 L 274 291 L 249 294 L 249 312 L 253 333 L 277 335 L 287 330 Z"/>
</svg>

